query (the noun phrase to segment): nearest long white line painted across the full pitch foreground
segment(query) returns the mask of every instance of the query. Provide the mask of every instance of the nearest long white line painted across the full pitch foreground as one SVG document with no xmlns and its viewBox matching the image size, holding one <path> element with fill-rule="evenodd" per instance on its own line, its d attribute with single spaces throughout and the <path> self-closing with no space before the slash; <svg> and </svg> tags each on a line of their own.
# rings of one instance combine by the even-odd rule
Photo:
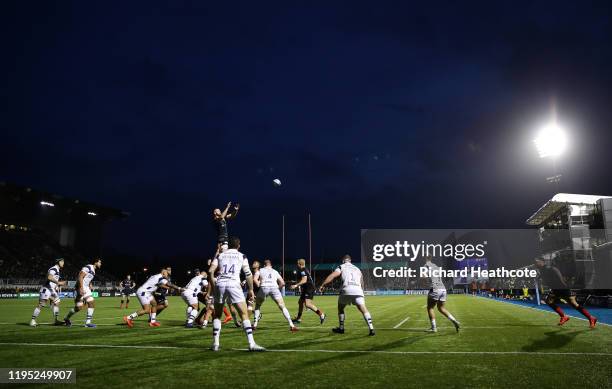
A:
<svg viewBox="0 0 612 389">
<path fill-rule="evenodd" d="M 74 344 L 74 343 L 17 343 L 17 342 L 0 342 L 3 346 L 42 346 L 42 347 L 90 347 L 90 348 L 127 348 L 127 349 L 185 349 L 185 350 L 199 350 L 198 347 L 178 347 L 178 346 L 133 346 L 133 345 L 112 345 L 112 344 Z M 206 347 L 202 347 L 205 349 Z M 230 350 L 234 351 L 248 351 L 248 349 L 233 348 Z M 593 353 L 593 352 L 541 352 L 541 351 L 385 351 L 385 350 L 299 350 L 299 349 L 273 349 L 267 350 L 268 352 L 274 353 L 337 353 L 337 354 L 391 354 L 391 355 L 418 355 L 418 354 L 431 354 L 431 355 L 595 355 L 595 356 L 612 356 L 612 353 Z"/>
</svg>

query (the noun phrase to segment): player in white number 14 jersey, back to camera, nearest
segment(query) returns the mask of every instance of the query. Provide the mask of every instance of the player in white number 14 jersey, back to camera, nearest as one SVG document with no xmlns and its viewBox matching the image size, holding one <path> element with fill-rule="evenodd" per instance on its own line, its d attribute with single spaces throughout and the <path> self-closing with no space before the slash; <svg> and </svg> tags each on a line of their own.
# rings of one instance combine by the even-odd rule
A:
<svg viewBox="0 0 612 389">
<path fill-rule="evenodd" d="M 244 273 L 248 289 L 249 300 L 254 299 L 253 275 L 249 269 L 246 255 L 238 251 L 240 239 L 229 239 L 228 249 L 219 254 L 210 265 L 210 284 L 214 294 L 215 313 L 213 319 L 213 351 L 219 351 L 219 338 L 221 337 L 221 313 L 225 302 L 233 304 L 242 318 L 242 327 L 249 342 L 249 351 L 265 351 L 253 339 L 253 328 L 249 320 L 249 313 L 245 303 L 242 287 L 240 286 L 240 272 Z M 218 273 L 217 273 L 218 270 Z"/>
</svg>

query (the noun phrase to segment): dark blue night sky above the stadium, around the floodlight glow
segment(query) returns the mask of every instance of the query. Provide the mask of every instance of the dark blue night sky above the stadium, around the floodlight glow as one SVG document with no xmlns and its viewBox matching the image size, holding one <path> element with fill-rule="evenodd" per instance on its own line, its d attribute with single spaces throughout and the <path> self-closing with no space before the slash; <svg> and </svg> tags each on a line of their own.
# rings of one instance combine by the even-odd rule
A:
<svg viewBox="0 0 612 389">
<path fill-rule="evenodd" d="M 106 245 L 357 256 L 361 228 L 522 227 L 554 187 L 612 194 L 607 2 L 0 5 L 0 180 L 132 213 Z M 304 3 L 305 4 L 305 3 Z M 284 185 L 274 189 L 273 178 Z"/>
</svg>

